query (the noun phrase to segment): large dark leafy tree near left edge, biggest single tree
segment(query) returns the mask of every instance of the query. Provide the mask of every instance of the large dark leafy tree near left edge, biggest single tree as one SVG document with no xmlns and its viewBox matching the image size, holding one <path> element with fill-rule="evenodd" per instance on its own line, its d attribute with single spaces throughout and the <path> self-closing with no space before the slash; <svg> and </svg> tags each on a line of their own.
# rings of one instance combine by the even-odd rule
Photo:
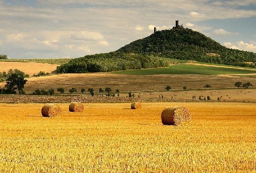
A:
<svg viewBox="0 0 256 173">
<path fill-rule="evenodd" d="M 6 79 L 5 87 L 11 91 L 15 92 L 15 90 L 19 91 L 19 94 L 23 94 L 23 88 L 26 84 L 27 80 L 25 78 L 25 73 L 18 69 L 10 69 L 7 73 L 8 77 Z"/>
</svg>

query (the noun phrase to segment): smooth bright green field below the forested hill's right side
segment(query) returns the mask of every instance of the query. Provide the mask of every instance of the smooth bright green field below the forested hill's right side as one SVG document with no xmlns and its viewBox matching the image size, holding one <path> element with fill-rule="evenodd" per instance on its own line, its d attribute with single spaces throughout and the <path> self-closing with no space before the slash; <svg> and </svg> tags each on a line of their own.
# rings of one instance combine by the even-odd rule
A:
<svg viewBox="0 0 256 173">
<path fill-rule="evenodd" d="M 178 64 L 171 66 L 170 68 L 148 68 L 140 70 L 124 70 L 113 72 L 114 74 L 125 75 L 223 75 L 223 74 L 251 74 L 256 73 L 253 70 L 235 69 L 235 68 L 222 68 L 222 67 L 207 67 L 196 66 L 190 64 Z"/>
</svg>

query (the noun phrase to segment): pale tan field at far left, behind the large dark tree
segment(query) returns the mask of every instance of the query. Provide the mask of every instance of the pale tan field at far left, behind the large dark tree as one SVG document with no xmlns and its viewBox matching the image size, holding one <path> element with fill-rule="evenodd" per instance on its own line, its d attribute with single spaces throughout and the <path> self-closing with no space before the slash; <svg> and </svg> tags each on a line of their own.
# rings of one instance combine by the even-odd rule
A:
<svg viewBox="0 0 256 173">
<path fill-rule="evenodd" d="M 4 62 L 0 61 L 0 72 L 8 71 L 9 69 L 19 69 L 25 74 L 37 75 L 40 71 L 52 73 L 56 70 L 56 64 L 36 63 L 36 62 Z"/>
</svg>

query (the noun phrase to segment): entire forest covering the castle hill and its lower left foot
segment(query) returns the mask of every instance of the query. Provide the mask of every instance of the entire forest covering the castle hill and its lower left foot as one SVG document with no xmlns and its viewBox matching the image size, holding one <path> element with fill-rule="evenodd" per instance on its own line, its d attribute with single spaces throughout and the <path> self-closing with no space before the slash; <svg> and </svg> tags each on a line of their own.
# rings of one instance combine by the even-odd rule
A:
<svg viewBox="0 0 256 173">
<path fill-rule="evenodd" d="M 208 56 L 207 53 L 219 56 Z M 256 53 L 226 48 L 191 29 L 172 29 L 157 31 L 115 52 L 86 55 L 70 60 L 58 67 L 57 73 L 109 72 L 168 66 L 168 61 L 157 57 L 253 68 L 255 65 L 243 62 L 256 62 Z"/>
</svg>

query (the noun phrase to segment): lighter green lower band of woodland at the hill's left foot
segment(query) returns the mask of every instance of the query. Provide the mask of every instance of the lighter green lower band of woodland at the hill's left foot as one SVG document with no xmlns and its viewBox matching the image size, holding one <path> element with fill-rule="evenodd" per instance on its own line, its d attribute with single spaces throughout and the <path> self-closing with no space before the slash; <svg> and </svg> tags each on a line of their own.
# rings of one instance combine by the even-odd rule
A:
<svg viewBox="0 0 256 173">
<path fill-rule="evenodd" d="M 126 69 L 167 67 L 168 61 L 133 53 L 101 53 L 70 60 L 57 73 L 110 72 Z"/>
</svg>

